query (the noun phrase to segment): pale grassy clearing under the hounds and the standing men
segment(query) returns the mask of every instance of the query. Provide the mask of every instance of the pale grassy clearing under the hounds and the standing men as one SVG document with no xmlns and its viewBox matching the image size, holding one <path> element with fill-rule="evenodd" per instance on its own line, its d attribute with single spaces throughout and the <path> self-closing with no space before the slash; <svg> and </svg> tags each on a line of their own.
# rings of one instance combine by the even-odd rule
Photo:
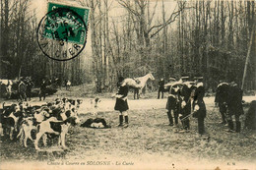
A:
<svg viewBox="0 0 256 170">
<path fill-rule="evenodd" d="M 81 90 L 78 89 L 77 91 Z M 68 92 L 57 93 L 48 99 L 60 95 L 68 96 Z M 88 93 L 83 97 L 95 96 Z M 104 94 L 104 97 L 108 96 L 110 93 Z M 156 96 L 157 93 L 155 92 L 147 94 L 145 98 L 156 98 Z M 75 95 L 75 97 L 82 96 Z M 140 101 L 143 103 L 151 100 L 155 102 L 154 99 L 142 99 Z M 162 100 L 162 102 L 165 101 L 165 99 Z M 136 103 L 137 101 L 133 102 Z M 247 109 L 245 108 L 245 112 Z M 210 167 L 210 169 L 217 166 L 224 167 L 224 169 L 246 169 L 245 165 L 248 163 L 255 165 L 255 131 L 243 129 L 239 134 L 227 133 L 225 132 L 227 128 L 219 124 L 221 116 L 218 109 L 214 109 L 213 102 L 207 102 L 207 110 L 208 114 L 205 120 L 207 135 L 203 138 L 197 134 L 196 119 L 191 118 L 191 131 L 189 133 L 179 132 L 180 124 L 177 128 L 168 126 L 164 107 L 131 109 L 128 128 L 115 127 L 118 124 L 117 112 L 102 111 L 98 113 L 97 117 L 104 118 L 112 128 L 100 130 L 79 126 L 72 127 L 66 138 L 69 150 L 65 151 L 64 154 L 37 153 L 32 142 L 29 142 L 29 147 L 25 148 L 19 142 L 1 139 L 0 160 L 6 163 L 9 161 L 18 163 L 35 161 L 44 164 L 49 161 L 84 161 L 93 164 L 97 164 L 99 161 L 110 161 L 110 166 L 118 169 L 127 167 L 133 169 L 136 165 L 143 165 L 141 168 L 145 169 L 153 168 L 154 165 L 158 165 L 158 169 L 184 169 L 189 168 L 191 164 L 201 168 Z M 81 114 L 80 116 L 82 122 L 88 118 L 94 118 L 91 114 Z M 244 115 L 241 116 L 241 120 L 243 122 Z M 56 139 L 49 142 L 49 146 L 56 144 Z M 123 163 L 123 161 L 134 165 L 116 165 L 117 162 Z M 103 166 L 103 168 L 110 166 Z M 87 166 L 87 168 L 90 167 Z"/>
</svg>

